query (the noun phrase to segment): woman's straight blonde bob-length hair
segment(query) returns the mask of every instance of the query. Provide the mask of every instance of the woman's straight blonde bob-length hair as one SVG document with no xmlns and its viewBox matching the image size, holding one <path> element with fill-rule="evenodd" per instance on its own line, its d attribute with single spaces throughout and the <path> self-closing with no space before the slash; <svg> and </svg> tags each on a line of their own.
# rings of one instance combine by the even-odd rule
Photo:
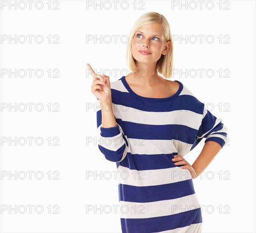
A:
<svg viewBox="0 0 256 233">
<path fill-rule="evenodd" d="M 135 65 L 135 60 L 131 54 L 131 43 L 133 42 L 134 34 L 138 28 L 141 26 L 148 24 L 148 23 L 162 23 L 163 30 L 164 30 L 164 37 L 166 41 L 171 41 L 171 45 L 169 51 L 166 55 L 161 55 L 160 59 L 157 61 L 157 72 L 167 79 L 172 77 L 172 70 L 173 70 L 173 43 L 172 43 L 172 34 L 171 29 L 169 26 L 168 21 L 166 18 L 157 12 L 147 12 L 141 15 L 136 22 L 134 23 L 133 27 L 131 28 L 129 34 L 129 40 L 126 45 L 126 63 L 128 69 L 134 72 L 137 67 Z"/>
</svg>

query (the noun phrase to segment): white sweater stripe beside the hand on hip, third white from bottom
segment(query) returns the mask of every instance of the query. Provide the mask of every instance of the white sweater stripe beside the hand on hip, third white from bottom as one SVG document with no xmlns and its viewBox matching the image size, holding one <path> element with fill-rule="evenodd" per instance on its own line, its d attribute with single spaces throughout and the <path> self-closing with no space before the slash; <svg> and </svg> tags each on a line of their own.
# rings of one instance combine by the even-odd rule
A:
<svg viewBox="0 0 256 233">
<path fill-rule="evenodd" d="M 155 170 L 131 170 L 119 165 L 117 170 L 120 184 L 137 187 L 166 185 L 192 179 L 189 169 L 180 167 Z"/>
</svg>

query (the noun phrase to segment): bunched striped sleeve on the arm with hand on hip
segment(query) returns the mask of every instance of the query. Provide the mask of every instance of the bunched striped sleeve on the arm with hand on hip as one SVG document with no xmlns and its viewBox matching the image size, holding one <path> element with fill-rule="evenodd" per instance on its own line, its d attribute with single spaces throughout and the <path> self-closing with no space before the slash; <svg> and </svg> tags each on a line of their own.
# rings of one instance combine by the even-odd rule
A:
<svg viewBox="0 0 256 233">
<path fill-rule="evenodd" d="M 204 105 L 203 118 L 197 133 L 198 141 L 201 141 L 202 138 L 206 138 L 204 143 L 214 141 L 223 148 L 228 141 L 227 133 L 227 126 L 222 123 L 222 119 L 217 119 Z"/>
</svg>

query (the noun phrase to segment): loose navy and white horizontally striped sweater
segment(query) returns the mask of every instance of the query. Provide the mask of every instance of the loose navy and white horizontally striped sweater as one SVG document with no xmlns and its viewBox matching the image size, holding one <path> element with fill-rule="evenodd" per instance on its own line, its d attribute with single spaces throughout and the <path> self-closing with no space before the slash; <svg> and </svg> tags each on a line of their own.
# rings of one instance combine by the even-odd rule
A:
<svg viewBox="0 0 256 233">
<path fill-rule="evenodd" d="M 176 81 L 176 80 L 175 80 Z M 188 169 L 172 162 L 204 142 L 227 143 L 227 127 L 182 82 L 172 97 L 137 95 L 125 76 L 111 82 L 116 127 L 102 128 L 99 151 L 116 162 L 122 232 L 201 232 L 202 215 Z"/>
</svg>

